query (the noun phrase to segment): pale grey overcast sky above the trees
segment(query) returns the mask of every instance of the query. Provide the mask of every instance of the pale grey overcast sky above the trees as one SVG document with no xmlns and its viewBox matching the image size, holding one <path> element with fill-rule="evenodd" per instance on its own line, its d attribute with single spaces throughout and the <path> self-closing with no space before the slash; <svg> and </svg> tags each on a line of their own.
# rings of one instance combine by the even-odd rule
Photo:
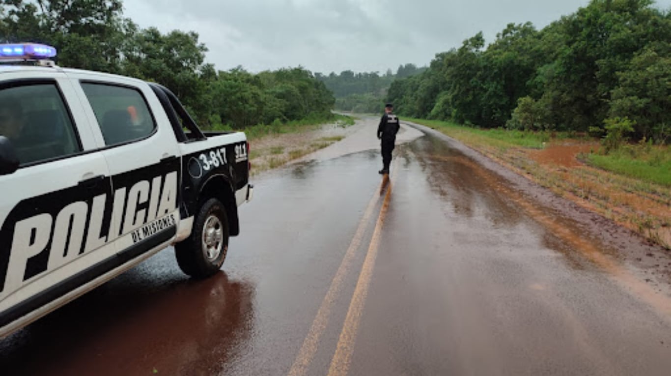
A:
<svg viewBox="0 0 671 376">
<path fill-rule="evenodd" d="M 218 69 L 304 66 L 321 73 L 425 65 L 479 31 L 543 28 L 588 0 L 125 0 L 125 16 L 162 32 L 193 30 Z M 658 0 L 671 7 L 671 0 Z"/>
</svg>

